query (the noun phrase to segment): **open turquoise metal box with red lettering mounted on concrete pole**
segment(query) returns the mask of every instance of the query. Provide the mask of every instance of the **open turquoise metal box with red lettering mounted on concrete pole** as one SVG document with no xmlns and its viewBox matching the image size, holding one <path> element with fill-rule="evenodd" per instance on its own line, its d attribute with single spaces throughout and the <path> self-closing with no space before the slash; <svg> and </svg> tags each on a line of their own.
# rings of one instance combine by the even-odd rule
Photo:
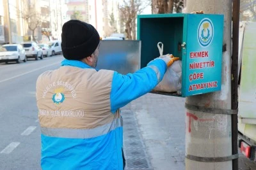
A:
<svg viewBox="0 0 256 170">
<path fill-rule="evenodd" d="M 158 42 L 164 45 L 163 54 L 182 60 L 181 94 L 156 93 L 186 97 L 221 90 L 223 18 L 191 13 L 138 15 L 140 67 L 159 57 Z"/>
</svg>

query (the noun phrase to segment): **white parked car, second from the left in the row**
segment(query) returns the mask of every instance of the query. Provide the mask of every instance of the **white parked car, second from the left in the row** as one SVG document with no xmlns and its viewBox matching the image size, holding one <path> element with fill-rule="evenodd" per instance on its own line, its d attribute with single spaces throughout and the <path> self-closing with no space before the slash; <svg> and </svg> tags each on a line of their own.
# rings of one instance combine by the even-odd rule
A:
<svg viewBox="0 0 256 170">
<path fill-rule="evenodd" d="M 38 60 L 38 57 L 40 57 L 41 60 L 44 59 L 43 50 L 35 42 L 26 42 L 21 45 L 25 49 L 27 58 L 35 58 L 35 60 Z"/>
</svg>

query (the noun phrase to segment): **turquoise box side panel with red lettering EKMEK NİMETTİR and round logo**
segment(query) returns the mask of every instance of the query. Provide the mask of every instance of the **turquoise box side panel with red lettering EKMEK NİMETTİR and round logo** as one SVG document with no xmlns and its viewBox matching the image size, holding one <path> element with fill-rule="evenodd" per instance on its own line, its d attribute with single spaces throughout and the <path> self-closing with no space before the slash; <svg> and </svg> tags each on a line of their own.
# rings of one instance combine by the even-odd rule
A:
<svg viewBox="0 0 256 170">
<path fill-rule="evenodd" d="M 188 15 L 185 96 L 221 90 L 223 15 Z"/>
</svg>

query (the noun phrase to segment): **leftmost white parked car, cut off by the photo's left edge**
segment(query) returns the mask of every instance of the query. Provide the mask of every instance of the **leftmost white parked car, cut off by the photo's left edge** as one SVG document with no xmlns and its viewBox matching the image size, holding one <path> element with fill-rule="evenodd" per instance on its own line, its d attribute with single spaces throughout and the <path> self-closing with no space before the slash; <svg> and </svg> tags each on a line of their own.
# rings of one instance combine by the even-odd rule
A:
<svg viewBox="0 0 256 170">
<path fill-rule="evenodd" d="M 15 61 L 17 63 L 20 63 L 20 61 L 27 61 L 25 50 L 22 45 L 12 44 L 0 47 L 0 62 L 5 62 L 7 64 L 9 61 Z"/>
</svg>

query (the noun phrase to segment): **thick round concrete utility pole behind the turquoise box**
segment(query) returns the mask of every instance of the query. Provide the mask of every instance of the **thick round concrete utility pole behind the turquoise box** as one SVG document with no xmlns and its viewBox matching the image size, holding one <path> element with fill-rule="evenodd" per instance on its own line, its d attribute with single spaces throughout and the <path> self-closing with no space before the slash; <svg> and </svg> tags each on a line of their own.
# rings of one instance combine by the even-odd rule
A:
<svg viewBox="0 0 256 170">
<path fill-rule="evenodd" d="M 186 13 L 200 10 L 224 15 L 222 82 L 219 92 L 186 97 L 187 129 L 191 126 L 186 129 L 186 169 L 230 170 L 237 157 L 232 155 L 231 129 L 232 1 L 186 1 Z"/>
</svg>

